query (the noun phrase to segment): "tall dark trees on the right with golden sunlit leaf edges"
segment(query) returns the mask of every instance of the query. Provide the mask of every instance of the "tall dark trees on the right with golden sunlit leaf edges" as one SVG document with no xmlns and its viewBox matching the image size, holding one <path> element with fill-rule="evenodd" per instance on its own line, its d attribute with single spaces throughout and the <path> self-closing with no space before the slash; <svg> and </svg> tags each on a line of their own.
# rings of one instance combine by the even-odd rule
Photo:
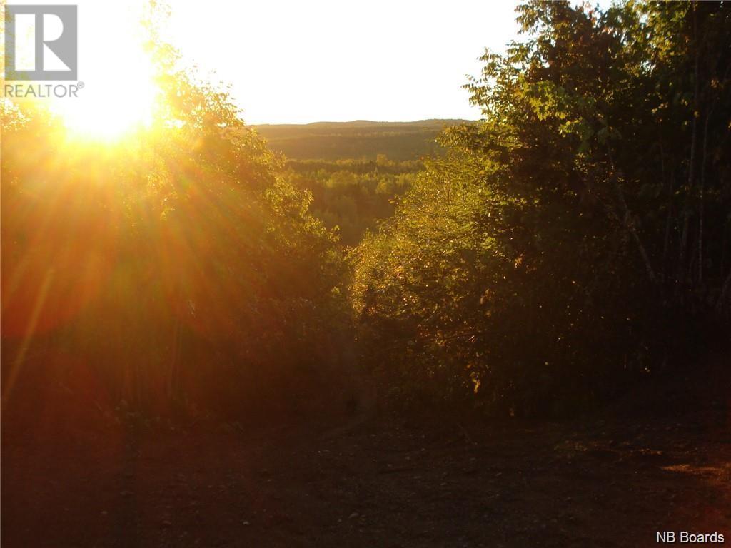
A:
<svg viewBox="0 0 731 548">
<path fill-rule="evenodd" d="M 730 12 L 518 8 L 466 86 L 485 120 L 352 257 L 398 395 L 563 413 L 728 337 Z"/>
</svg>

